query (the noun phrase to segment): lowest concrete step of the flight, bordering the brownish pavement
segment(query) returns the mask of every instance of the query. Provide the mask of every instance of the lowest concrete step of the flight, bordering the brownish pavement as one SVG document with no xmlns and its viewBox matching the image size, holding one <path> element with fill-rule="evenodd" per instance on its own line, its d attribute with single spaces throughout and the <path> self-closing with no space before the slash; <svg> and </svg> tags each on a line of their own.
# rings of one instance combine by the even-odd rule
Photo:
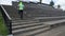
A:
<svg viewBox="0 0 65 36">
<path fill-rule="evenodd" d="M 36 31 L 31 31 L 31 32 L 27 32 L 27 33 L 24 33 L 24 34 L 18 34 L 18 36 L 31 36 L 32 34 L 40 34 L 40 32 L 46 32 L 50 30 L 50 28 L 42 28 L 42 29 L 39 29 L 39 30 L 36 30 Z"/>
</svg>

